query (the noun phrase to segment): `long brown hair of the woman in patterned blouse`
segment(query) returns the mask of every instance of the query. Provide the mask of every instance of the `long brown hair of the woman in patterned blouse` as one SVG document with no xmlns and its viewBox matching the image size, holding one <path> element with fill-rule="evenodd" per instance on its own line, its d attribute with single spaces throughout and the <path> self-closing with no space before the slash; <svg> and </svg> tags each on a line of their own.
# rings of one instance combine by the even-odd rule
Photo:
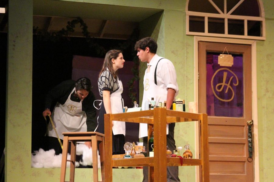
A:
<svg viewBox="0 0 274 182">
<path fill-rule="evenodd" d="M 115 72 L 113 70 L 113 67 L 112 67 L 112 61 L 111 59 L 116 59 L 119 54 L 122 53 L 121 50 L 116 50 L 116 49 L 112 49 L 110 51 L 107 52 L 106 56 L 105 56 L 105 59 L 104 59 L 104 63 L 103 63 L 103 67 L 100 71 L 100 74 L 99 74 L 99 77 L 100 75 L 102 74 L 103 71 L 105 70 L 109 70 L 109 72 L 111 72 L 111 74 L 113 75 L 113 77 L 116 79 L 117 78 L 117 71 Z"/>
</svg>

